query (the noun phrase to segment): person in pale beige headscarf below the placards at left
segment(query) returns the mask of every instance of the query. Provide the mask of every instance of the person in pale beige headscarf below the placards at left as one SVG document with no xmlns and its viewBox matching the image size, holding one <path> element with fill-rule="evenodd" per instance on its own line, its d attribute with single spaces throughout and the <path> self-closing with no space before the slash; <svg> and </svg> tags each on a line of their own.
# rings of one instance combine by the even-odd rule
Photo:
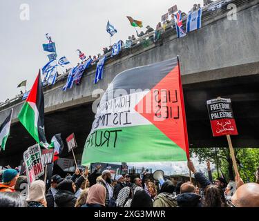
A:
<svg viewBox="0 0 259 221">
<path fill-rule="evenodd" d="M 42 180 L 36 180 L 30 185 L 30 191 L 27 198 L 28 207 L 47 207 L 45 198 L 46 186 Z"/>
</svg>

